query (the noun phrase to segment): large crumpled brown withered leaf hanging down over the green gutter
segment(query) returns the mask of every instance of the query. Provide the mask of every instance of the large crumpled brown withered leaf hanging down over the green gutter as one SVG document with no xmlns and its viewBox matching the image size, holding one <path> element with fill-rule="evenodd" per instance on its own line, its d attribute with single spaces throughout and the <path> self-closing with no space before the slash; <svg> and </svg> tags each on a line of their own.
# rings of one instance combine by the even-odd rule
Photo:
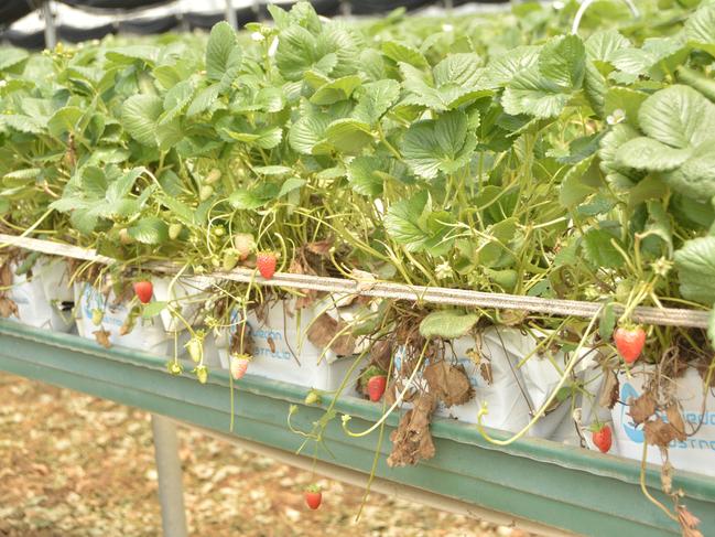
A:
<svg viewBox="0 0 715 537">
<path fill-rule="evenodd" d="M 397 430 L 390 434 L 393 443 L 392 453 L 388 457 L 390 468 L 413 465 L 434 457 L 430 419 L 435 407 L 435 395 L 423 391 L 412 409 L 402 417 Z"/>
</svg>

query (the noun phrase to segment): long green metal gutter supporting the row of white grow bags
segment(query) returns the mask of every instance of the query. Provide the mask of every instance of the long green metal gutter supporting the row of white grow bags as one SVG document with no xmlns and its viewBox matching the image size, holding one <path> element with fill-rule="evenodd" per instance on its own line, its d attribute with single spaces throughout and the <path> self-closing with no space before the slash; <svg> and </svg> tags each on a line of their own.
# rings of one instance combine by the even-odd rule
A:
<svg viewBox="0 0 715 537">
<path fill-rule="evenodd" d="M 166 358 L 126 348 L 106 350 L 74 335 L 58 334 L 0 321 L 0 369 L 57 386 L 169 416 L 206 429 L 228 432 L 230 420 L 228 376 L 213 372 L 206 385 L 189 376 L 166 373 Z M 262 444 L 295 451 L 303 439 L 291 432 L 286 418 L 297 405 L 294 426 L 307 430 L 323 415 L 302 404 L 307 389 L 247 375 L 235 390 L 232 434 Z M 324 398 L 323 407 L 329 404 Z M 337 401 L 338 414 L 349 414 L 351 430 L 368 428 L 381 407 L 357 398 Z M 519 518 L 594 536 L 680 535 L 676 524 L 640 491 L 636 461 L 603 455 L 540 439 L 523 439 L 503 448 L 487 442 L 474 426 L 435 419 L 432 433 L 436 455 L 412 468 L 386 464 L 389 432 L 399 417 L 388 419 L 377 475 L 382 479 L 454 497 Z M 502 433 L 494 432 L 497 438 Z M 321 460 L 369 472 L 377 432 L 349 438 L 339 418 L 328 425 Z M 313 448 L 306 453 L 313 455 Z M 649 468 L 651 494 L 659 492 L 657 469 Z M 686 472 L 673 485 L 685 492 L 683 503 L 697 516 L 706 535 L 715 529 L 715 480 Z"/>
</svg>

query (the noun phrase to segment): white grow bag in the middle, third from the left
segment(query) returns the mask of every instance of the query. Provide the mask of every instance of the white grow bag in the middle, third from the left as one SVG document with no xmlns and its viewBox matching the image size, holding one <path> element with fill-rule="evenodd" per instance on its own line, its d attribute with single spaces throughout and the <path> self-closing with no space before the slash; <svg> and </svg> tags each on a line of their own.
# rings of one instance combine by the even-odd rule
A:
<svg viewBox="0 0 715 537">
<path fill-rule="evenodd" d="M 343 384 L 355 357 L 338 356 L 331 350 L 324 352 L 308 341 L 305 332 L 311 321 L 323 311 L 336 320 L 339 312 L 333 304 L 326 310 L 329 299 L 304 308 L 300 313 L 295 311 L 294 303 L 294 300 L 270 303 L 266 311 L 266 322 L 259 320 L 253 311 L 249 311 L 245 337 L 252 339 L 253 358 L 247 374 L 307 388 L 336 390 Z M 240 311 L 234 310 L 230 318 L 232 326 L 221 331 L 216 339 L 224 369 L 229 368 L 230 339 L 238 330 L 239 320 Z M 358 369 L 356 367 L 353 378 L 346 384 L 344 395 L 355 395 Z"/>
</svg>

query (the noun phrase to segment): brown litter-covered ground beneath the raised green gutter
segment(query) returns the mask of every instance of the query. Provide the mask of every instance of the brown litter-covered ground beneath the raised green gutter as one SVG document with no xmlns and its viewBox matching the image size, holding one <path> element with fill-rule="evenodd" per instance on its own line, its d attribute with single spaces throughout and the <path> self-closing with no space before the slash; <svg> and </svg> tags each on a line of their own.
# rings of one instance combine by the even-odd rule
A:
<svg viewBox="0 0 715 537">
<path fill-rule="evenodd" d="M 158 536 L 161 517 L 147 412 L 0 374 L 0 536 Z M 193 536 L 511 536 L 507 527 L 323 480 L 229 443 L 180 430 Z"/>
</svg>

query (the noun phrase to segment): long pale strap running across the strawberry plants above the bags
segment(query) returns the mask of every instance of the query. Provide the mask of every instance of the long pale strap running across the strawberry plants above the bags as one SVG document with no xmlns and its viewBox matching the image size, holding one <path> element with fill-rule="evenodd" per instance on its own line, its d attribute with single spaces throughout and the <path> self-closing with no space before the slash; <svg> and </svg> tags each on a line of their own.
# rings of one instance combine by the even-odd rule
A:
<svg viewBox="0 0 715 537">
<path fill-rule="evenodd" d="M 53 243 L 51 240 L 0 234 L 0 241 L 2 243 L 0 247 L 15 246 L 42 254 L 71 257 L 102 265 L 115 265 L 121 262 L 111 257 L 98 255 L 94 249 Z M 176 273 L 180 270 L 180 267 L 173 264 L 152 264 L 148 265 L 145 268 L 167 275 Z M 603 307 L 603 304 L 598 302 L 584 302 L 578 300 L 544 299 L 520 294 L 490 293 L 442 287 L 407 286 L 403 283 L 381 282 L 375 280 L 348 280 L 344 278 L 292 275 L 288 272 L 275 272 L 273 278 L 267 280 L 259 276 L 256 270 L 245 268 L 234 269 L 228 272 L 216 271 L 210 275 L 202 275 L 202 277 L 214 280 L 230 280 L 245 283 L 253 282 L 267 287 L 307 289 L 311 291 L 409 300 L 412 302 L 429 302 L 434 304 L 462 305 L 467 308 L 520 310 L 531 313 L 578 316 L 585 319 L 592 319 L 599 314 L 599 310 Z M 616 313 L 622 312 L 622 308 L 619 307 L 615 307 L 614 310 Z M 706 329 L 709 312 L 679 308 L 638 307 L 633 311 L 631 319 L 644 324 Z"/>
</svg>

